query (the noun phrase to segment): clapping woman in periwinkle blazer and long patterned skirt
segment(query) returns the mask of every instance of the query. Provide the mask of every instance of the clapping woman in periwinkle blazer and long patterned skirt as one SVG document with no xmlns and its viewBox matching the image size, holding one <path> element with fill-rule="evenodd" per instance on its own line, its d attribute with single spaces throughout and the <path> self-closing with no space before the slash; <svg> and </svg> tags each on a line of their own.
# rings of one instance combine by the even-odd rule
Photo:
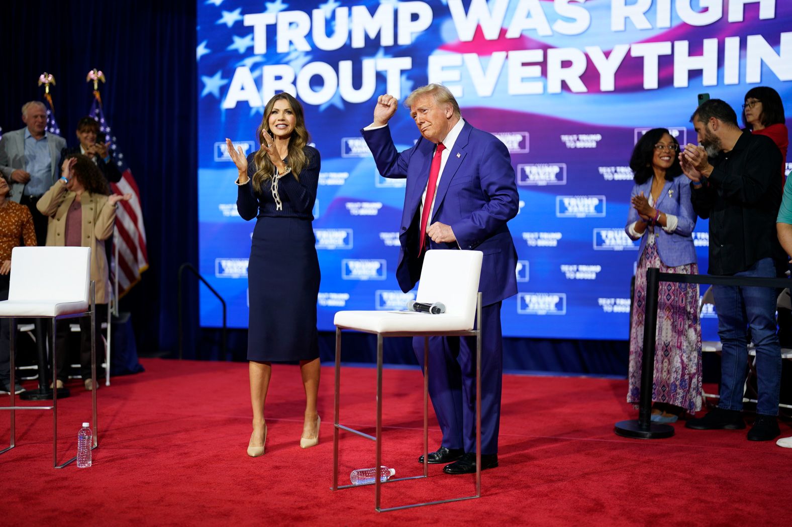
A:
<svg viewBox="0 0 792 527">
<path fill-rule="evenodd" d="M 682 174 L 680 144 L 665 128 L 638 140 L 630 158 L 635 185 L 625 231 L 640 239 L 630 330 L 630 389 L 627 402 L 641 396 L 641 362 L 646 298 L 646 269 L 698 274 L 690 181 Z M 699 286 L 661 284 L 657 308 L 657 349 L 652 388 L 652 421 L 675 422 L 687 411 L 701 410 L 701 326 Z"/>
</svg>

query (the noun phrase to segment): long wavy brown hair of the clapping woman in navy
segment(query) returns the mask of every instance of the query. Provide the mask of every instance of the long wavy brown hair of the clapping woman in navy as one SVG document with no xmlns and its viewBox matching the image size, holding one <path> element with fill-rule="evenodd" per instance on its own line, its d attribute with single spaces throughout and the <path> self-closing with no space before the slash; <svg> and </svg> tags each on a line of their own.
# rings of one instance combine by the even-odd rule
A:
<svg viewBox="0 0 792 527">
<path fill-rule="evenodd" d="M 308 135 L 308 130 L 305 128 L 303 105 L 301 105 L 295 97 L 285 92 L 272 96 L 264 108 L 264 118 L 261 119 L 261 124 L 259 124 L 256 129 L 256 143 L 261 144 L 264 140 L 262 138 L 263 132 L 266 131 L 272 135 L 272 130 L 269 129 L 269 116 L 272 113 L 272 107 L 275 106 L 277 101 L 281 100 L 289 103 L 291 111 L 295 115 L 295 129 L 291 132 L 291 137 L 289 138 L 287 156 L 289 158 L 289 166 L 291 166 L 291 174 L 294 174 L 295 179 L 299 181 L 299 173 L 308 162 L 308 158 L 305 152 L 303 152 L 303 147 L 308 144 L 310 136 Z M 257 169 L 256 174 L 253 174 L 253 189 L 257 193 L 261 193 L 261 186 L 269 178 L 272 178 L 272 174 L 275 174 L 275 166 L 272 165 L 272 161 L 270 161 L 267 152 L 263 148 L 260 148 L 259 151 L 256 152 L 256 155 L 253 156 L 253 161 L 256 162 Z"/>
</svg>

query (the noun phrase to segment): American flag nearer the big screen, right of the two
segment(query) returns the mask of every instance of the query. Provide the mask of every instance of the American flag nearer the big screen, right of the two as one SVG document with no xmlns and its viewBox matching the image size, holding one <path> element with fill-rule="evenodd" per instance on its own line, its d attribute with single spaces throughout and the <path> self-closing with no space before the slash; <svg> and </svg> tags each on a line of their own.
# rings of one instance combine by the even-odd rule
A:
<svg viewBox="0 0 792 527">
<path fill-rule="evenodd" d="M 101 108 L 101 101 L 98 97 L 94 98 L 89 112 L 99 122 L 99 131 L 105 132 L 110 140 L 110 150 L 112 151 L 112 162 L 118 165 L 121 172 L 121 181 L 110 183 L 113 193 L 131 193 L 132 199 L 129 201 L 119 201 L 116 210 L 116 227 L 112 235 L 112 242 L 117 248 L 118 254 L 118 296 L 124 296 L 129 289 L 140 281 L 140 273 L 148 269 L 148 254 L 146 251 L 146 227 L 143 225 L 143 210 L 140 208 L 140 191 L 129 166 L 124 161 L 124 154 L 121 153 L 116 136 L 112 135 L 110 125 L 105 120 L 105 113 Z M 116 258 L 116 250 L 112 252 Z M 116 270 L 116 262 L 110 266 L 111 273 Z M 111 279 L 116 278 L 114 276 Z"/>
</svg>

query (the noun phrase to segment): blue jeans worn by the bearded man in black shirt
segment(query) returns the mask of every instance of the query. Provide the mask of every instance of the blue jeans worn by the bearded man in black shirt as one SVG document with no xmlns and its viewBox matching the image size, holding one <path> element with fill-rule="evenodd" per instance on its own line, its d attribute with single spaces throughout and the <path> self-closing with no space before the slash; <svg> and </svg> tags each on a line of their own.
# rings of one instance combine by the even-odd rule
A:
<svg viewBox="0 0 792 527">
<path fill-rule="evenodd" d="M 759 262 L 735 277 L 775 278 L 771 258 Z M 781 346 L 775 334 L 775 288 L 713 285 L 721 355 L 721 400 L 718 408 L 742 410 L 745 376 L 748 370 L 748 345 L 745 327 L 751 327 L 756 346 L 756 376 L 759 395 L 756 413 L 779 414 L 781 390 Z"/>
</svg>

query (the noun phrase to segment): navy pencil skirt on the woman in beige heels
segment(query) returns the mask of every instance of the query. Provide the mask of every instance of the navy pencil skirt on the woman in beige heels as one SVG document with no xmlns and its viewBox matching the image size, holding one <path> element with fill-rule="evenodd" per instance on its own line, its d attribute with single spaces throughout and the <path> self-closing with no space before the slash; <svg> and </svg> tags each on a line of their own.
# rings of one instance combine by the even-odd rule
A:
<svg viewBox="0 0 792 527">
<path fill-rule="evenodd" d="M 310 220 L 260 216 L 248 264 L 249 361 L 319 357 L 319 260 Z"/>
</svg>

